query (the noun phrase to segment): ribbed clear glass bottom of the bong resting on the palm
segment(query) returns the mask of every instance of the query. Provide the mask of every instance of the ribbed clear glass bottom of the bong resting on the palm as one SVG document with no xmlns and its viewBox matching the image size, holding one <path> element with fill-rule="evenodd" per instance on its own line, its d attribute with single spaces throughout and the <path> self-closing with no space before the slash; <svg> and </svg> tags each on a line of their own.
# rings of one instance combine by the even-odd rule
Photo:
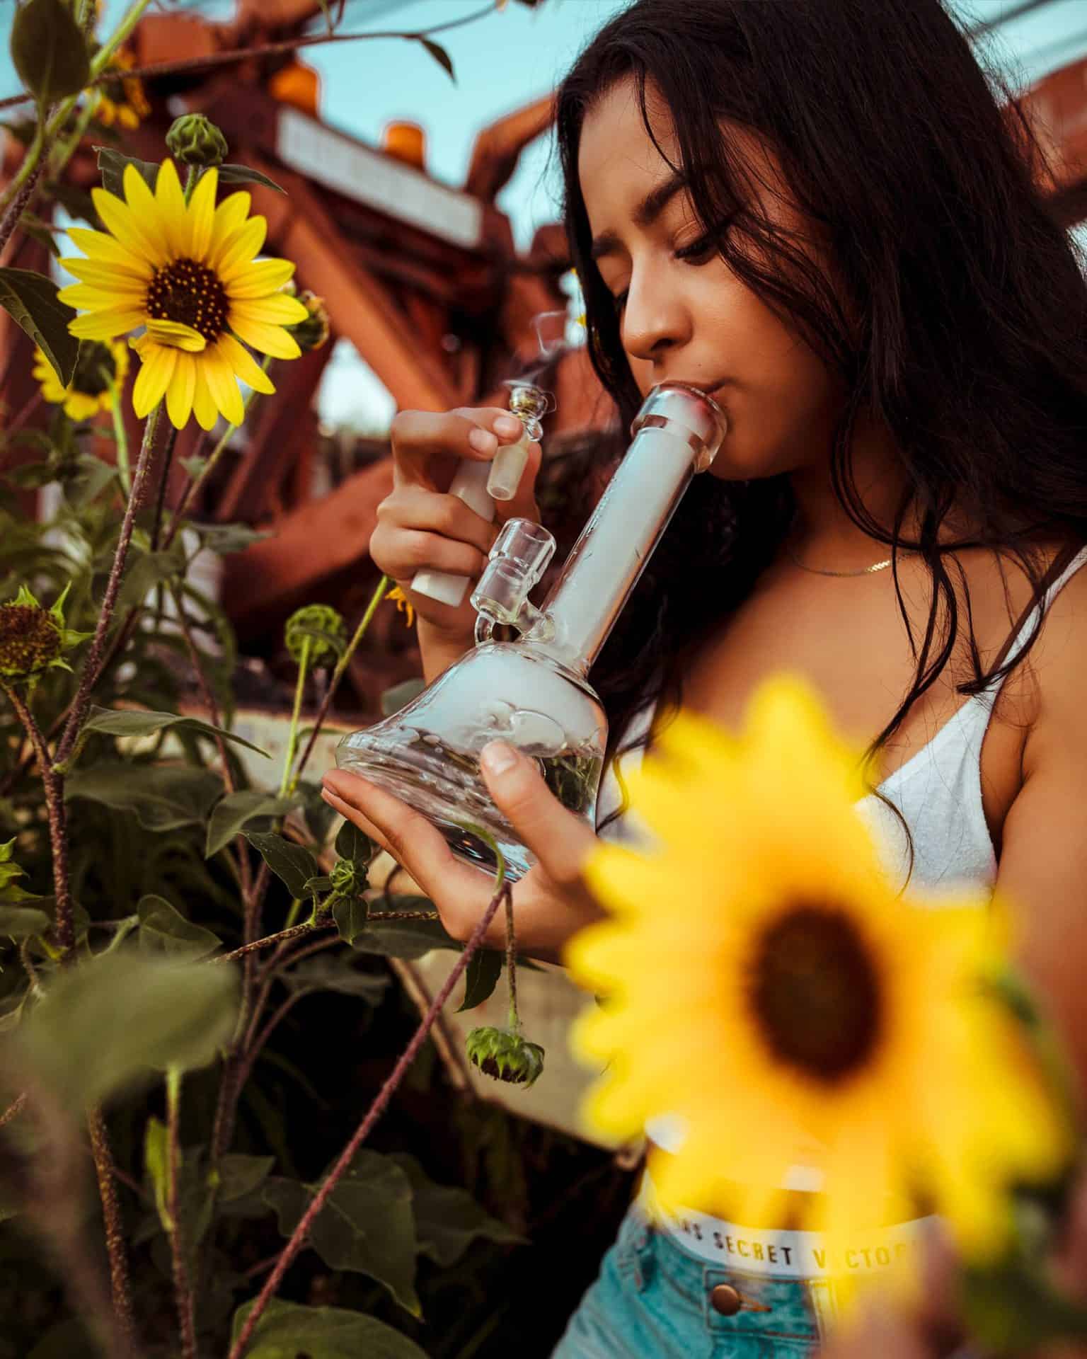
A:
<svg viewBox="0 0 1087 1359">
<path fill-rule="evenodd" d="M 424 743 L 425 738 L 420 739 L 417 733 L 410 743 L 390 741 L 387 735 L 386 739 L 366 739 L 367 735 L 359 733 L 351 746 L 341 745 L 336 753 L 341 769 L 409 803 L 440 830 L 458 859 L 493 875 L 497 868 L 493 849 L 467 829 L 480 826 L 493 836 L 501 851 L 507 879 L 516 882 L 524 877 L 535 856 L 516 839 L 514 828 L 491 800 L 471 756 Z"/>
</svg>

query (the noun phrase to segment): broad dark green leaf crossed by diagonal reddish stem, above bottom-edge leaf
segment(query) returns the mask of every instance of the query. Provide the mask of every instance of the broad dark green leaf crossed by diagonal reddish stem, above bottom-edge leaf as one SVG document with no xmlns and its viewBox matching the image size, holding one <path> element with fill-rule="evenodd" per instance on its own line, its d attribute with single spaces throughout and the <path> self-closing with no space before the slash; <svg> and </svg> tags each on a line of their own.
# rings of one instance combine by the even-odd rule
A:
<svg viewBox="0 0 1087 1359">
<path fill-rule="evenodd" d="M 319 1185 L 269 1180 L 264 1201 L 289 1237 Z M 308 1242 L 326 1265 L 370 1275 L 383 1283 L 413 1317 L 420 1317 L 414 1288 L 416 1231 L 412 1185 L 399 1166 L 376 1151 L 359 1151 L 310 1227 Z"/>
</svg>

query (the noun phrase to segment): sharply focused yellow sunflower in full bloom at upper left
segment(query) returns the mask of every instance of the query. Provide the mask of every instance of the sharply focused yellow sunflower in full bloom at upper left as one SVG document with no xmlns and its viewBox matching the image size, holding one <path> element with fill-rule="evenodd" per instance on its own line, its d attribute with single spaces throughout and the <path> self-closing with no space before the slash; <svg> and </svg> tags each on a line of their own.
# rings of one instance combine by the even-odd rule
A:
<svg viewBox="0 0 1087 1359">
<path fill-rule="evenodd" d="M 87 258 L 63 260 L 80 281 L 57 296 L 86 308 L 68 329 L 109 340 L 145 326 L 132 341 L 143 363 L 132 405 L 143 417 L 166 397 L 178 429 L 190 413 L 204 429 L 217 414 L 242 424 L 236 379 L 257 391 L 276 390 L 245 345 L 296 359 L 300 349 L 284 328 L 308 317 L 296 298 L 279 291 L 293 264 L 254 260 L 266 222 L 249 216 L 250 196 L 232 193 L 216 207 L 217 183 L 217 173 L 207 170 L 186 205 L 173 160 L 159 166 L 154 193 L 135 166 L 125 166 L 124 200 L 91 190 L 109 234 L 69 228 Z"/>
</svg>

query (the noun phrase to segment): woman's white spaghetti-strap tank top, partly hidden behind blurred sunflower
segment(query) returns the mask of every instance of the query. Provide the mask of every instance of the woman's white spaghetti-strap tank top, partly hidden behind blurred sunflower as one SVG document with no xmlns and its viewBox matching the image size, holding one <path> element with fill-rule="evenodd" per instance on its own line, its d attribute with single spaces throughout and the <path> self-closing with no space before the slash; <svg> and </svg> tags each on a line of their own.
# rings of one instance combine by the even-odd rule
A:
<svg viewBox="0 0 1087 1359">
<path fill-rule="evenodd" d="M 1045 616 L 1063 586 L 1087 563 L 1080 549 L 1031 609 L 1008 648 L 1005 659 L 1018 656 L 1031 635 L 1038 613 Z M 902 813 L 913 837 L 913 872 L 909 887 L 925 890 L 988 887 L 996 882 L 996 853 L 981 802 L 981 742 L 1003 680 L 972 694 L 936 734 L 904 765 L 889 775 L 878 791 Z M 656 708 L 649 705 L 630 723 L 624 739 L 641 738 Z M 622 756 L 622 772 L 641 762 L 643 749 Z M 622 806 L 618 780 L 609 762 L 601 783 L 596 822 Z M 872 830 L 885 868 L 895 889 L 906 882 L 909 847 L 898 817 L 879 798 L 868 794 L 856 805 L 857 814 Z M 601 830 L 601 837 L 624 840 L 622 817 Z M 984 900 L 984 898 L 982 898 Z M 670 1116 L 645 1124 L 645 1132 L 666 1151 L 678 1150 L 682 1131 Z M 799 1170 L 800 1167 L 798 1167 Z M 794 1182 L 788 1188 L 815 1188 Z"/>
</svg>

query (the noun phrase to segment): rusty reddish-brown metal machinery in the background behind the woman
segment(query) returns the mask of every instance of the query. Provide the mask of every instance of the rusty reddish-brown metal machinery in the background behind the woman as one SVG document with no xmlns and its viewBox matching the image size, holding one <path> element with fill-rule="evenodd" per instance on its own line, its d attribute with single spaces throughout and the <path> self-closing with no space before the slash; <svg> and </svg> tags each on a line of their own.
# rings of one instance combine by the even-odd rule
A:
<svg viewBox="0 0 1087 1359">
<path fill-rule="evenodd" d="M 318 0 L 236 0 L 227 23 L 148 14 L 130 46 L 139 67 L 198 60 L 302 35 L 321 14 Z M 147 84 L 147 96 L 151 116 L 125 133 L 125 151 L 158 160 L 174 117 L 201 111 L 212 118 L 227 136 L 231 160 L 287 190 L 247 186 L 254 211 L 268 219 L 268 253 L 296 262 L 299 285 L 326 300 L 334 337 L 355 345 L 398 406 L 504 404 L 501 381 L 535 355 L 533 317 L 565 306 L 558 280 L 569 260 L 561 228 L 541 227 L 519 254 L 496 207 L 520 152 L 550 125 L 550 94 L 480 133 L 461 188 L 428 174 L 425 135 L 413 124 L 390 125 L 383 145 L 372 147 L 322 121 L 318 76 L 293 53 L 163 76 Z M 1022 107 L 1046 148 L 1046 193 L 1071 227 L 1087 217 L 1087 61 L 1046 76 Z M 76 189 L 99 179 L 90 141 L 68 167 Z M 20 154 L 8 139 L 5 174 Z M 23 242 L 19 262 L 43 268 L 43 249 Z M 18 333 L 12 337 L 4 322 L 0 334 L 11 348 Z M 277 367 L 279 400 L 258 406 L 239 432 L 227 476 L 201 510 L 205 518 L 274 530 L 227 559 L 224 602 L 243 640 L 260 637 L 299 602 L 336 601 L 352 582 L 366 586 L 374 575 L 367 544 L 375 508 L 391 487 L 387 450 L 371 443 L 364 465 L 349 450 L 346 474 L 330 489 L 315 485 L 314 395 L 330 351 L 326 345 Z M 567 353 L 549 382 L 558 394 L 557 416 L 545 427 L 549 438 L 592 429 L 607 417 L 583 351 Z M 5 383 L 10 410 L 33 398 L 27 344 L 15 344 Z M 197 435 L 182 434 L 175 463 L 193 451 Z"/>
</svg>

